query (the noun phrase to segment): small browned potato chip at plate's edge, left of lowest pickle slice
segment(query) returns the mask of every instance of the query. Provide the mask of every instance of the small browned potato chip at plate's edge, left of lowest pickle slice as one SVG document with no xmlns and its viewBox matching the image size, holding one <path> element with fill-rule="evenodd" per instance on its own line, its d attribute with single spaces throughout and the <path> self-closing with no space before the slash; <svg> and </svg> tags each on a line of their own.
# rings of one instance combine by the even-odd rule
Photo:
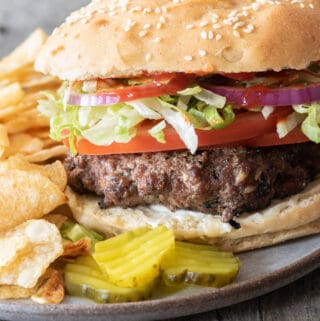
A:
<svg viewBox="0 0 320 321">
<path fill-rule="evenodd" d="M 40 304 L 59 304 L 64 299 L 64 280 L 61 273 L 49 268 L 39 280 L 39 288 L 31 300 Z"/>
</svg>

